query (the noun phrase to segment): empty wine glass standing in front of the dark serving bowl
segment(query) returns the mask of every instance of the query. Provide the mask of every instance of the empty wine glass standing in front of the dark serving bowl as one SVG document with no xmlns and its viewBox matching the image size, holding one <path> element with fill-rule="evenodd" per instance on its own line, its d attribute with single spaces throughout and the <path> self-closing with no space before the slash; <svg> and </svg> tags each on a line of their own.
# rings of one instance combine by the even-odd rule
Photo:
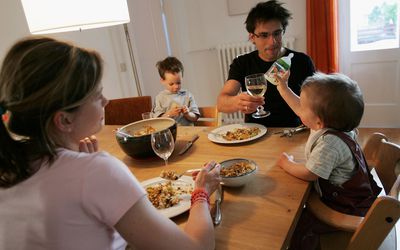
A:
<svg viewBox="0 0 400 250">
<path fill-rule="evenodd" d="M 162 130 L 151 134 L 151 147 L 153 151 L 165 161 L 168 166 L 168 158 L 174 151 L 174 137 L 169 129 Z"/>
</svg>

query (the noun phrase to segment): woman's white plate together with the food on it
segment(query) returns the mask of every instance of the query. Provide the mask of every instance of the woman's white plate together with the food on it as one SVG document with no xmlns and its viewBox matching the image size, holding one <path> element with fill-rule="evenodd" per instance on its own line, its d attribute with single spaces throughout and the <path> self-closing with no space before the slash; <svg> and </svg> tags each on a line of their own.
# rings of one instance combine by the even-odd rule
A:
<svg viewBox="0 0 400 250">
<path fill-rule="evenodd" d="M 182 176 L 176 181 L 156 177 L 141 184 L 150 202 L 164 216 L 172 218 L 190 209 L 190 196 L 194 188 L 192 177 Z"/>
</svg>

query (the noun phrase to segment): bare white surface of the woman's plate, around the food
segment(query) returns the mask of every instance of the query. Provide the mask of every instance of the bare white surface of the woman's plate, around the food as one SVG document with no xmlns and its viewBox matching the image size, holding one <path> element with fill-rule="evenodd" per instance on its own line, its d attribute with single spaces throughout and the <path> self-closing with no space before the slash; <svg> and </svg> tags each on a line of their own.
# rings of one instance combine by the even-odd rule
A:
<svg viewBox="0 0 400 250">
<path fill-rule="evenodd" d="M 156 177 L 153 179 L 145 180 L 141 182 L 141 185 L 146 189 L 148 186 L 153 186 L 157 183 L 162 183 L 166 182 L 168 180 L 165 180 L 161 177 Z M 191 176 L 182 176 L 179 180 L 172 181 L 172 186 L 174 187 L 181 187 L 183 189 L 191 189 L 193 190 L 194 188 L 194 181 Z M 174 216 L 177 216 L 181 213 L 186 212 L 187 210 L 190 209 L 190 192 L 187 194 L 182 194 L 180 195 L 181 201 L 179 201 L 178 204 L 169 207 L 169 208 L 164 208 L 164 209 L 158 209 L 161 214 L 168 218 L 172 218 Z"/>
</svg>

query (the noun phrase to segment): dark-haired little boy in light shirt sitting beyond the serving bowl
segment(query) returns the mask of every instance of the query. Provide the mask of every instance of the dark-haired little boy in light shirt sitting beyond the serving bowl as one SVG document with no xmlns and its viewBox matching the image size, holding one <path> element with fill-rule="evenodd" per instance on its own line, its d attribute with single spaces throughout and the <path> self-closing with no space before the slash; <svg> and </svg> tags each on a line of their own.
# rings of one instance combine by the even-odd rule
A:
<svg viewBox="0 0 400 250">
<path fill-rule="evenodd" d="M 192 93 L 181 89 L 183 65 L 176 57 L 167 57 L 156 64 L 160 82 L 165 87 L 155 99 L 155 117 L 171 117 L 179 125 L 193 126 L 199 119 L 199 108 Z"/>
</svg>

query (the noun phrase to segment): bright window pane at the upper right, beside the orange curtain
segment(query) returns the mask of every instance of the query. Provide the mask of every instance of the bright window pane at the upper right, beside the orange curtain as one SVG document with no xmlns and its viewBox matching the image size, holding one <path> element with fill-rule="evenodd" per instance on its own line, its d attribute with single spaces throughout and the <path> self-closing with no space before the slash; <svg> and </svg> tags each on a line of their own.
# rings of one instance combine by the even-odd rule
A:
<svg viewBox="0 0 400 250">
<path fill-rule="evenodd" d="M 351 51 L 399 48 L 400 0 L 350 0 Z"/>
</svg>

